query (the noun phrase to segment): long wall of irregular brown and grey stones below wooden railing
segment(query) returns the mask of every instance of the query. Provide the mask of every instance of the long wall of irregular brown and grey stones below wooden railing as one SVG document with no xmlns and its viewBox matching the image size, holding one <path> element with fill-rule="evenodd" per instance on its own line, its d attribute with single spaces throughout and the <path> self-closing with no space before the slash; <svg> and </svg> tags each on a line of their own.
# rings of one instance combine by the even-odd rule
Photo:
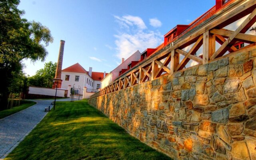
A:
<svg viewBox="0 0 256 160">
<path fill-rule="evenodd" d="M 256 160 L 256 50 L 89 100 L 181 160 Z"/>
</svg>

